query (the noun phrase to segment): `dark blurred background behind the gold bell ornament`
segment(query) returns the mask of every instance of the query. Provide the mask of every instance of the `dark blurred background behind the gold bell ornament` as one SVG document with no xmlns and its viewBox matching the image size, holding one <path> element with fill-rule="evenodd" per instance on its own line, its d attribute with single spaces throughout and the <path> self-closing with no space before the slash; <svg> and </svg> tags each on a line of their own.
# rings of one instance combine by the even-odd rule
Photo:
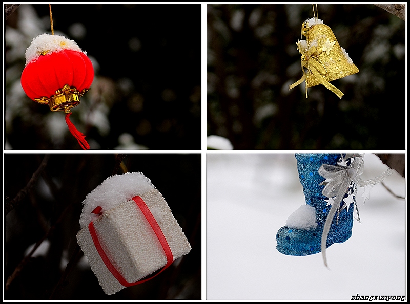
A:
<svg viewBox="0 0 410 304">
<path fill-rule="evenodd" d="M 207 5 L 207 135 L 234 149 L 405 149 L 405 21 L 373 4 L 318 4 L 359 73 L 308 89 L 296 42 L 312 4 Z"/>
</svg>

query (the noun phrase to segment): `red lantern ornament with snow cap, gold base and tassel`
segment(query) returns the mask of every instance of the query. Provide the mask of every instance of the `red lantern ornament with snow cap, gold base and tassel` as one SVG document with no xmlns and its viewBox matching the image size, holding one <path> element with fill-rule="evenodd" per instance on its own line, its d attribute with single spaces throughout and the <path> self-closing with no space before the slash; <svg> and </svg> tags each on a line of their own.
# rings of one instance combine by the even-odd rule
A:
<svg viewBox="0 0 410 304">
<path fill-rule="evenodd" d="M 21 77 L 24 92 L 30 99 L 48 104 L 53 112 L 64 111 L 71 134 L 84 150 L 90 145 L 70 121 L 70 109 L 80 103 L 79 97 L 90 90 L 93 80 L 93 64 L 74 40 L 42 34 L 26 50 Z"/>
</svg>

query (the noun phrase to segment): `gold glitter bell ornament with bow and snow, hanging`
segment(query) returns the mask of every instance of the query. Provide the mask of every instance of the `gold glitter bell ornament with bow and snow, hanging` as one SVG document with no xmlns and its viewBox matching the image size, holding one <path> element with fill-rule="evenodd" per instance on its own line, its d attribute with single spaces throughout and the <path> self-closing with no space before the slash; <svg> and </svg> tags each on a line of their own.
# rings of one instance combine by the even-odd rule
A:
<svg viewBox="0 0 410 304">
<path fill-rule="evenodd" d="M 313 12 L 315 15 L 315 10 Z M 331 28 L 323 24 L 323 20 L 317 18 L 317 6 L 315 17 L 302 24 L 301 37 L 302 35 L 306 37 L 306 40 L 299 40 L 296 44 L 302 55 L 300 62 L 303 76 L 289 85 L 289 90 L 305 80 L 306 98 L 308 98 L 308 88 L 318 84 L 323 84 L 342 98 L 343 92 L 329 82 L 356 74 L 359 69 L 353 64 L 353 60 L 345 49 L 339 45 Z"/>
</svg>

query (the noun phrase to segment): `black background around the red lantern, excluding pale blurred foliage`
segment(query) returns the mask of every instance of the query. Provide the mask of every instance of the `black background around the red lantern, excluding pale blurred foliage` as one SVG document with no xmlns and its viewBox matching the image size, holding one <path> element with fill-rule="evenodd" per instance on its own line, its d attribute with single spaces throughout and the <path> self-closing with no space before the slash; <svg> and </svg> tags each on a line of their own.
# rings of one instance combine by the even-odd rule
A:
<svg viewBox="0 0 410 304">
<path fill-rule="evenodd" d="M 25 49 L 35 37 L 28 34 L 27 24 L 19 23 L 28 18 L 23 14 L 29 14 L 23 6 L 32 6 L 37 16 L 31 19 L 42 25 L 35 36 L 51 34 L 48 4 L 22 4 L 7 19 L 6 37 L 13 29 L 25 40 L 6 38 L 6 70 L 12 72 L 6 72 L 6 109 L 13 101 L 12 84 L 19 82 L 24 69 Z M 73 39 L 97 61 L 91 90 L 71 115 L 91 149 L 113 149 L 123 133 L 150 149 L 201 149 L 200 4 L 52 4 L 51 8 L 54 34 Z M 77 37 L 72 26 L 78 23 L 86 33 Z M 21 42 L 18 49 L 13 45 L 17 42 Z M 19 57 L 11 56 L 11 51 Z M 64 121 L 62 113 L 50 113 L 48 106 L 25 94 L 20 98 L 26 111 L 7 118 L 11 148 L 80 149 L 67 126 L 61 142 L 50 137 L 46 121 L 50 115 Z M 89 118 L 101 103 L 107 107 L 108 134 L 99 132 Z"/>
</svg>

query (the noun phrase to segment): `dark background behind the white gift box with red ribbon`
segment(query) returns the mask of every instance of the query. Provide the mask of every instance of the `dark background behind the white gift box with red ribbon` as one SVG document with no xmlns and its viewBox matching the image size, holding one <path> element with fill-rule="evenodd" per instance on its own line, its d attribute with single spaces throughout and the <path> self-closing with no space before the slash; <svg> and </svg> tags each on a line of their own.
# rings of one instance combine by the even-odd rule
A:
<svg viewBox="0 0 410 304">
<path fill-rule="evenodd" d="M 42 154 L 5 155 L 6 205 L 27 185 L 43 158 Z M 19 267 L 6 299 L 201 299 L 201 155 L 131 154 L 123 162 L 129 172 L 144 173 L 162 193 L 190 242 L 190 253 L 150 281 L 108 296 L 91 268 L 78 266 L 83 256 L 79 250 L 77 258 L 71 258 L 74 264 L 68 276 L 58 284 L 65 269 L 61 259 L 70 259 L 75 252 L 82 202 L 112 175 L 116 155 L 52 154 L 33 188 L 6 215 L 5 281 L 25 250 L 49 230 L 50 247 L 44 256 L 31 257 Z"/>
</svg>

